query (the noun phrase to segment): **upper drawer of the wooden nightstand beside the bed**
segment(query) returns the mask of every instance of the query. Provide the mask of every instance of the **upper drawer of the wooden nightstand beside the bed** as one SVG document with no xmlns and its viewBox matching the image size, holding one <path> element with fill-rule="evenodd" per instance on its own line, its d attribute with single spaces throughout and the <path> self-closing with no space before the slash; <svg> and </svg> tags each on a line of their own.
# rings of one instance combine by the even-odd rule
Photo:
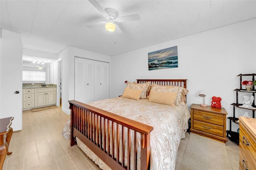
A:
<svg viewBox="0 0 256 170">
<path fill-rule="evenodd" d="M 223 126 L 223 115 L 218 113 L 209 113 L 206 111 L 194 110 L 193 119 L 198 121 L 203 121 L 206 123 L 211 123 L 215 125 Z"/>
</svg>

